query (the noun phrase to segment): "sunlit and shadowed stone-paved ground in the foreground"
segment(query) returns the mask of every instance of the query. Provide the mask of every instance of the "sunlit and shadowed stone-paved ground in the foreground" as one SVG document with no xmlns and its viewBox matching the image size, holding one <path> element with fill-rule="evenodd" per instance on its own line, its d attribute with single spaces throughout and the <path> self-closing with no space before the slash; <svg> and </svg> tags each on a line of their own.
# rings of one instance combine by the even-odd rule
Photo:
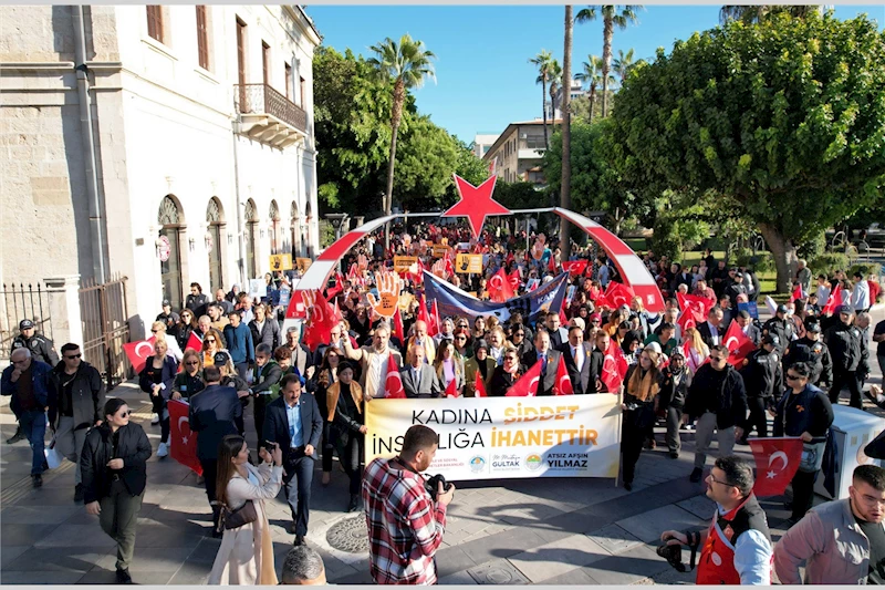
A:
<svg viewBox="0 0 885 590">
<path fill-rule="evenodd" d="M 875 320 L 883 317 L 885 310 L 876 310 Z M 872 382 L 878 383 L 878 368 L 874 369 Z M 156 449 L 159 426 L 149 423 L 146 395 L 133 384 L 121 385 L 112 394 L 129 401 L 134 418 L 143 424 Z M 247 424 L 251 424 L 251 415 Z M 4 404 L 0 437 L 6 441 L 13 431 L 13 417 Z M 712 515 L 704 484 L 688 482 L 694 434 L 684 432 L 683 441 L 683 456 L 676 460 L 668 458 L 662 446 L 643 452 L 632 493 L 611 479 L 459 484 L 444 547 L 437 553 L 440 583 L 693 582 L 694 573 L 677 573 L 655 553 L 662 530 L 706 526 Z M 253 443 L 252 434 L 252 447 Z M 737 451 L 750 456 L 749 447 L 738 446 Z M 32 489 L 29 456 L 24 442 L 0 444 L 0 583 L 113 582 L 114 544 L 102 532 L 97 518 L 73 503 L 73 466 L 64 463 L 44 476 L 41 489 Z M 362 513 L 343 511 L 347 498 L 346 477 L 337 463 L 325 488 L 317 465 L 308 542 L 322 553 L 330 582 L 372 583 L 364 550 L 347 552 L 327 541 L 333 526 L 333 534 L 353 531 L 353 546 L 363 540 Z M 789 514 L 778 498 L 766 499 L 762 506 L 777 540 Z M 282 495 L 268 503 L 268 513 L 279 568 L 293 540 L 284 530 L 290 516 Z M 170 457 L 160 460 L 153 456 L 131 568 L 134 580 L 205 583 L 220 545 L 209 536 L 209 519 L 204 487 L 197 485 L 196 475 Z"/>
</svg>

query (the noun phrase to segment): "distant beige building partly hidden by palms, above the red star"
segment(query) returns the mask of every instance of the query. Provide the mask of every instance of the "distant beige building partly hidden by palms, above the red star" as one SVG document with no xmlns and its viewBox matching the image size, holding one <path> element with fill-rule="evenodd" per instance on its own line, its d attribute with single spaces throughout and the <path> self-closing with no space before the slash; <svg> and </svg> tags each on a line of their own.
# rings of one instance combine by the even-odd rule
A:
<svg viewBox="0 0 885 590">
<path fill-rule="evenodd" d="M 553 136 L 553 125 L 560 123 L 548 120 L 549 136 Z M 492 163 L 497 158 L 494 172 L 502 180 L 532 183 L 542 188 L 546 185 L 541 169 L 545 148 L 543 121 L 523 121 L 509 124 L 482 159 Z"/>
</svg>

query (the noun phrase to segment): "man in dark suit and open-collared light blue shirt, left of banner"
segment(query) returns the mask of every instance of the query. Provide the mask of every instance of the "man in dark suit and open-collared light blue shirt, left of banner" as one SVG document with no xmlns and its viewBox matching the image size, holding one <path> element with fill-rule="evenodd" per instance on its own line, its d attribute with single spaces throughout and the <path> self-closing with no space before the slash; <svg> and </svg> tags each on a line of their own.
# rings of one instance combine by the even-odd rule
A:
<svg viewBox="0 0 885 590">
<path fill-rule="evenodd" d="M 283 449 L 283 489 L 292 510 L 290 532 L 295 534 L 295 545 L 304 545 L 311 511 L 313 465 L 317 457 L 316 446 L 323 431 L 323 417 L 313 395 L 302 392 L 299 375 L 285 375 L 281 382 L 281 393 L 267 407 L 264 439 L 279 444 Z"/>
</svg>

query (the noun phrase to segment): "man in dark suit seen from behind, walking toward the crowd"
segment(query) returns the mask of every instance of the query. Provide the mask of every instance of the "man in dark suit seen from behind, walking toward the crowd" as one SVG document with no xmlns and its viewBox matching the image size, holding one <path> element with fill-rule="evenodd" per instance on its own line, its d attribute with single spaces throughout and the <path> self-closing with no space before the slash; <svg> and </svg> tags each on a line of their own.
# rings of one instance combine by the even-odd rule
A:
<svg viewBox="0 0 885 590">
<path fill-rule="evenodd" d="M 219 353 L 221 354 L 221 353 Z M 216 355 L 218 358 L 218 355 Z M 227 359 L 227 355 L 223 356 Z M 218 362 L 218 361 L 216 361 Z M 202 466 L 206 496 L 212 505 L 212 537 L 221 537 L 218 531 L 219 508 L 215 501 L 215 480 L 218 475 L 218 445 L 228 434 L 239 434 L 237 421 L 242 420 L 242 404 L 235 387 L 221 385 L 221 370 L 207 366 L 204 372 L 206 389 L 190 397 L 190 429 L 199 433 L 197 437 L 197 458 Z"/>
</svg>

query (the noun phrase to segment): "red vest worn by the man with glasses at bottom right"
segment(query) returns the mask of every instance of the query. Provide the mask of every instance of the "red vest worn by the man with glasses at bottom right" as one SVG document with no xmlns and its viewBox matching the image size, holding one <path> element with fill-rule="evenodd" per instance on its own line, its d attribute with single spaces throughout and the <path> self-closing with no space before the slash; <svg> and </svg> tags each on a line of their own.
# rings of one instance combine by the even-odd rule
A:
<svg viewBox="0 0 885 590">
<path fill-rule="evenodd" d="M 695 583 L 740 586 L 740 576 L 735 569 L 735 546 L 738 544 L 738 537 L 750 529 L 762 532 L 771 542 L 766 511 L 759 506 L 753 494 L 725 515 L 720 515 L 717 510 L 707 531 L 704 549 L 700 551 Z"/>
</svg>

